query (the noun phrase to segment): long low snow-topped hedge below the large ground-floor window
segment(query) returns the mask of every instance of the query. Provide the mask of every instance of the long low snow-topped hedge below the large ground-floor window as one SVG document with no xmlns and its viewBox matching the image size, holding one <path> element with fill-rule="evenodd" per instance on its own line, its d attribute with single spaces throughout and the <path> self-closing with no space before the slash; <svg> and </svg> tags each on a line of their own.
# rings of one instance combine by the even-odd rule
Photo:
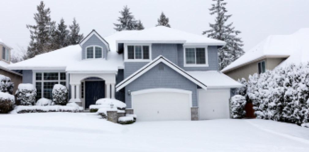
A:
<svg viewBox="0 0 309 152">
<path fill-rule="evenodd" d="M 49 106 L 24 106 L 19 105 L 13 110 L 13 113 L 44 113 L 44 112 L 82 112 L 82 107 L 74 106 L 61 106 L 61 105 L 49 105 Z"/>
</svg>

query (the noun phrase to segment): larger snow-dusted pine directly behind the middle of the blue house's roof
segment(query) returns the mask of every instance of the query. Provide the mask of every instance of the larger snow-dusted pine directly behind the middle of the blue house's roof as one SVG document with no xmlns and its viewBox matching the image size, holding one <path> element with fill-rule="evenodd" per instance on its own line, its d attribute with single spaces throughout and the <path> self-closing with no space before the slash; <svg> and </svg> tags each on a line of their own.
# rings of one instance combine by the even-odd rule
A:
<svg viewBox="0 0 309 152">
<path fill-rule="evenodd" d="M 130 9 L 128 6 L 124 6 L 123 10 L 119 12 L 121 14 L 121 17 L 118 17 L 117 21 L 119 21 L 119 24 L 114 23 L 116 26 L 114 29 L 116 31 L 122 31 L 122 30 L 135 30 L 137 21 L 134 19 L 134 16 L 130 12 Z"/>
</svg>

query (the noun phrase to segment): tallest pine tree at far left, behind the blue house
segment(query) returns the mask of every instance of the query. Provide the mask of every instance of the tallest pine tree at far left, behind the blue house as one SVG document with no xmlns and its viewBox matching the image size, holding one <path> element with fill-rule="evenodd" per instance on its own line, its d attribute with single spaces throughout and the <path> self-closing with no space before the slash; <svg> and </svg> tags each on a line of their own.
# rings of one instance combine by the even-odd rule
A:
<svg viewBox="0 0 309 152">
<path fill-rule="evenodd" d="M 36 25 L 27 25 L 30 31 L 30 43 L 27 49 L 26 58 L 32 58 L 35 55 L 49 52 L 52 50 L 53 33 L 55 31 L 55 22 L 50 18 L 50 9 L 44 8 L 43 1 L 37 6 L 38 13 L 34 14 Z"/>
</svg>

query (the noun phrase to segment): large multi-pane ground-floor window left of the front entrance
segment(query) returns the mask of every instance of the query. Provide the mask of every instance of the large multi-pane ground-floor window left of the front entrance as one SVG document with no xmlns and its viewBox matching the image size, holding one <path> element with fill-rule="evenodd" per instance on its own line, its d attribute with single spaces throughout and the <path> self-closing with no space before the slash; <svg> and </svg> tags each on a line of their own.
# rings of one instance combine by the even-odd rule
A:
<svg viewBox="0 0 309 152">
<path fill-rule="evenodd" d="M 55 84 L 67 86 L 66 72 L 34 72 L 36 86 L 36 100 L 40 98 L 52 99 L 52 90 Z"/>
</svg>

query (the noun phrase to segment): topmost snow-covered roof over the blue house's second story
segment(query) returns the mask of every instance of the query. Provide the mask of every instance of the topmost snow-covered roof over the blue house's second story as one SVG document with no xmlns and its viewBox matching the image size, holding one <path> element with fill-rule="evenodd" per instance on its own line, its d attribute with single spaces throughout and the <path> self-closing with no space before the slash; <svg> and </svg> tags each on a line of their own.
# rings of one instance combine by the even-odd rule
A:
<svg viewBox="0 0 309 152">
<path fill-rule="evenodd" d="M 184 43 L 184 45 L 225 45 L 225 42 L 205 35 L 192 34 L 174 28 L 157 26 L 117 40 L 118 43 Z"/>
</svg>

